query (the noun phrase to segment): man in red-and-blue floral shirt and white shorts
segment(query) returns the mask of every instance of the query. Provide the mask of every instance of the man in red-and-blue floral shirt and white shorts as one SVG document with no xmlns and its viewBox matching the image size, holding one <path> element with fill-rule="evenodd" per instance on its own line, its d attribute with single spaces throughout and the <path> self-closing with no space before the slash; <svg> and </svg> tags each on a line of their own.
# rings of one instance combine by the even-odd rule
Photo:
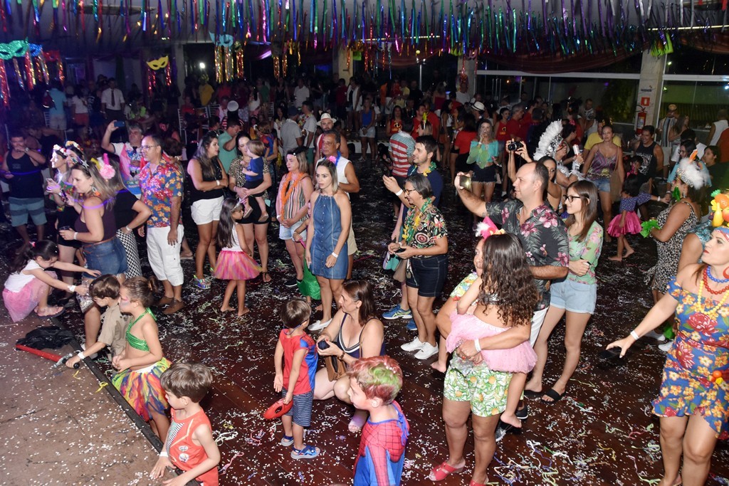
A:
<svg viewBox="0 0 729 486">
<path fill-rule="evenodd" d="M 141 200 L 152 209 L 147 220 L 147 257 L 157 280 L 163 283 L 165 296 L 157 305 L 167 307 L 170 315 L 184 307 L 182 301 L 182 264 L 180 245 L 184 227 L 180 219 L 184 177 L 175 162 L 163 158 L 162 140 L 148 135 L 141 141 L 144 165 L 139 172 Z"/>
</svg>

